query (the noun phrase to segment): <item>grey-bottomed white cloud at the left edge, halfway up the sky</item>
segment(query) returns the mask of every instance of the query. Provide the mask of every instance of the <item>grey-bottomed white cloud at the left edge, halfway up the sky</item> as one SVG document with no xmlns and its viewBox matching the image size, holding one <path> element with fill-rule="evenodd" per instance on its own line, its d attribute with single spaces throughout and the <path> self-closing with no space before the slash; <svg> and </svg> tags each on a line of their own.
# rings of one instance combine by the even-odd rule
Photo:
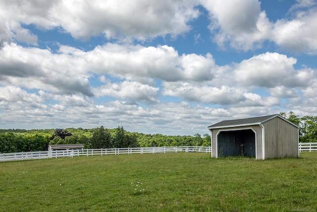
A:
<svg viewBox="0 0 317 212">
<path fill-rule="evenodd" d="M 0 50 L 0 82 L 56 93 L 92 96 L 81 59 L 38 48 L 5 45 Z"/>
</svg>

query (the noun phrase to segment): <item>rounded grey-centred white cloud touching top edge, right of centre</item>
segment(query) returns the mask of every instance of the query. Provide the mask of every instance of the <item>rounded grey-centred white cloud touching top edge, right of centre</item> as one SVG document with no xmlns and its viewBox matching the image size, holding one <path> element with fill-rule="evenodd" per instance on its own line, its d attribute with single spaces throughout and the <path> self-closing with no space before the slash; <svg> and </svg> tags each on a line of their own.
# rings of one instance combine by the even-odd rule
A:
<svg viewBox="0 0 317 212">
<path fill-rule="evenodd" d="M 261 46 L 271 24 L 258 0 L 203 0 L 210 12 L 210 29 L 221 48 L 249 50 Z"/>
</svg>

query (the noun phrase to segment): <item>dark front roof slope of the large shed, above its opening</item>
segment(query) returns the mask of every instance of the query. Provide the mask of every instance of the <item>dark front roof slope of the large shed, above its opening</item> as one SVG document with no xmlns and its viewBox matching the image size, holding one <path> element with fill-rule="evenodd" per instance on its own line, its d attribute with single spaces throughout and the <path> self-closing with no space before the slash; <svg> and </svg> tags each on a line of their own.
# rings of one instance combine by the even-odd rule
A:
<svg viewBox="0 0 317 212">
<path fill-rule="evenodd" d="M 259 116 L 253 118 L 246 118 L 246 119 L 234 119 L 234 120 L 226 120 L 218 122 L 214 125 L 209 126 L 208 128 L 218 128 L 224 126 L 236 126 L 236 125 L 250 125 L 250 124 L 259 124 L 263 123 L 264 121 L 269 120 L 275 116 L 279 116 L 278 114 L 268 115 L 268 116 Z"/>
</svg>

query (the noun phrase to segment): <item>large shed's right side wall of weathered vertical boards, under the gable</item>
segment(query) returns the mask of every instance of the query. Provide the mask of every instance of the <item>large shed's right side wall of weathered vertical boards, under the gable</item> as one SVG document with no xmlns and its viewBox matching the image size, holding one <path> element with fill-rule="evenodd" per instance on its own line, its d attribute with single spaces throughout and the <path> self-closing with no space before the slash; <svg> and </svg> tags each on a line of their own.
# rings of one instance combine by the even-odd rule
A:
<svg viewBox="0 0 317 212">
<path fill-rule="evenodd" d="M 263 123 L 265 159 L 298 157 L 298 128 L 275 117 Z"/>
</svg>

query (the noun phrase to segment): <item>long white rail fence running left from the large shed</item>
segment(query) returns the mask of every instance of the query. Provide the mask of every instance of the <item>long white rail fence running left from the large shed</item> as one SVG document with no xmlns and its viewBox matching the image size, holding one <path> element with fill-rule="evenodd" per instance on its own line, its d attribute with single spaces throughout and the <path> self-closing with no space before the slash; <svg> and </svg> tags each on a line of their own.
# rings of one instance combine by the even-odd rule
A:
<svg viewBox="0 0 317 212">
<path fill-rule="evenodd" d="M 136 147 L 136 148 L 102 148 L 102 149 L 70 149 L 52 151 L 30 151 L 0 153 L 0 161 L 28 160 L 57 157 L 107 155 L 107 154 L 144 154 L 168 152 L 211 152 L 211 146 L 172 146 L 172 147 Z"/>
</svg>

